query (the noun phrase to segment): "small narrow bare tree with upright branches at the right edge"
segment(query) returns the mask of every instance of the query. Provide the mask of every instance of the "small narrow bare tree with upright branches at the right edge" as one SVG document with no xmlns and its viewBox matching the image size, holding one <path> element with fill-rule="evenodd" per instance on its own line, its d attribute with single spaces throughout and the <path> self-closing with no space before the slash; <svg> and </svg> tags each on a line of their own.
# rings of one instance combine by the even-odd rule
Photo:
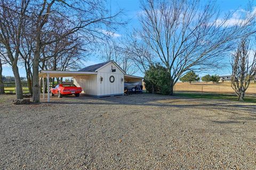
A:
<svg viewBox="0 0 256 170">
<path fill-rule="evenodd" d="M 250 40 L 243 38 L 238 44 L 231 61 L 232 76 L 231 87 L 235 91 L 238 100 L 243 101 L 250 82 L 256 75 L 256 52 L 250 59 Z"/>
</svg>

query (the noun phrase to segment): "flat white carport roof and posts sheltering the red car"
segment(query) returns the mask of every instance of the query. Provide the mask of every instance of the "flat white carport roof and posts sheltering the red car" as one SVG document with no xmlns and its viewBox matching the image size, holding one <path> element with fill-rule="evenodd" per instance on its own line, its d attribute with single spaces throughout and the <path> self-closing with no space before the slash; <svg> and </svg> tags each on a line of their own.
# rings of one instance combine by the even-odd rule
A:
<svg viewBox="0 0 256 170">
<path fill-rule="evenodd" d="M 95 74 L 97 74 L 97 72 L 41 70 L 39 71 L 39 78 L 41 78 L 43 81 L 43 100 L 45 99 L 44 78 L 46 78 L 46 81 L 47 81 L 47 102 L 50 102 L 50 77 L 76 77 L 76 76 L 87 76 L 87 75 L 95 75 Z"/>
</svg>

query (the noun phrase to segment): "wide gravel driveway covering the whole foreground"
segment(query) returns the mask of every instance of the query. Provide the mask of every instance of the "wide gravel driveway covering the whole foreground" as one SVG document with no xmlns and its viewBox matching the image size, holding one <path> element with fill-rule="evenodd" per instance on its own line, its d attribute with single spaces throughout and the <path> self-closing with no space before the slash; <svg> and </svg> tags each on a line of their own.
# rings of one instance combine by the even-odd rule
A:
<svg viewBox="0 0 256 170">
<path fill-rule="evenodd" d="M 256 169 L 256 104 L 0 95 L 0 169 Z"/>
</svg>

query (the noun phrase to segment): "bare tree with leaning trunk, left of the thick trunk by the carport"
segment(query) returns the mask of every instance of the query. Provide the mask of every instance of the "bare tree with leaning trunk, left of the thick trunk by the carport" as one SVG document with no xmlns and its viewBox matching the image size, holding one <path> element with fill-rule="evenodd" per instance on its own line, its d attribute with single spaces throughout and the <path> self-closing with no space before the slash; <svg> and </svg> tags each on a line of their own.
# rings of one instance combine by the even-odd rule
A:
<svg viewBox="0 0 256 170">
<path fill-rule="evenodd" d="M 28 1 L 0 1 L 0 43 L 3 44 L 8 63 L 12 66 L 17 99 L 23 99 L 18 59 Z"/>
</svg>

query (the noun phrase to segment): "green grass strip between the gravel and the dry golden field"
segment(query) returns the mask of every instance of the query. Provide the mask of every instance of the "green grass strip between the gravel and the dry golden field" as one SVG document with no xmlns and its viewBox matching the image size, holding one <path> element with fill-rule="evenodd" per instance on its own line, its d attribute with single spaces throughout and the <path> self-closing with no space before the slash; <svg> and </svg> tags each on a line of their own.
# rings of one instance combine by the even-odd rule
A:
<svg viewBox="0 0 256 170">
<path fill-rule="evenodd" d="M 224 99 L 237 101 L 237 96 L 233 94 L 214 94 L 214 93 L 175 93 L 176 96 L 184 96 L 187 98 L 203 98 L 203 99 Z M 245 95 L 244 102 L 256 103 L 256 97 Z"/>
</svg>

